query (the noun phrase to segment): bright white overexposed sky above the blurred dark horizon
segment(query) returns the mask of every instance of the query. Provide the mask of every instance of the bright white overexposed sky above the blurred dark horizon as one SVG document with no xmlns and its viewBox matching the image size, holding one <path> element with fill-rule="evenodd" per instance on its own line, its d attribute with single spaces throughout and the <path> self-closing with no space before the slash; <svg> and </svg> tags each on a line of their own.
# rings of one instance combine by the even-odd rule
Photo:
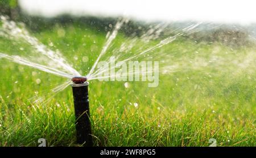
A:
<svg viewBox="0 0 256 158">
<path fill-rule="evenodd" d="M 19 0 L 30 14 L 119 16 L 139 20 L 256 23 L 255 0 Z"/>
</svg>

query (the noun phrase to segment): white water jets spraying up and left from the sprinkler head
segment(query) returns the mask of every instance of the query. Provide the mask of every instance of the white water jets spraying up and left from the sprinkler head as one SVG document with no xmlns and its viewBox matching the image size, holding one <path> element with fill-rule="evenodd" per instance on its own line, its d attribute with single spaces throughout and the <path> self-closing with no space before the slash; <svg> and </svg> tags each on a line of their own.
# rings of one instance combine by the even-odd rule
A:
<svg viewBox="0 0 256 158">
<path fill-rule="evenodd" d="M 43 56 L 43 63 L 45 65 L 40 65 L 38 63 L 32 62 L 27 58 L 19 57 L 19 55 L 7 55 L 1 53 L 2 57 L 12 60 L 13 62 L 20 63 L 22 65 L 27 65 L 46 71 L 55 75 L 64 76 L 66 78 L 72 78 L 72 76 L 81 76 L 78 71 L 73 69 L 73 67 L 67 62 L 60 52 L 48 49 L 46 45 L 42 44 L 36 37 L 30 35 L 24 25 L 18 26 L 15 22 L 8 20 L 6 16 L 0 16 L 2 27 L 0 28 L 0 35 L 8 39 L 22 40 L 27 42 L 34 48 L 33 52 L 27 52 L 27 57 L 31 57 L 31 54 Z M 19 53 L 19 52 L 16 52 Z M 38 57 L 32 58 L 34 61 L 38 61 Z"/>
</svg>

